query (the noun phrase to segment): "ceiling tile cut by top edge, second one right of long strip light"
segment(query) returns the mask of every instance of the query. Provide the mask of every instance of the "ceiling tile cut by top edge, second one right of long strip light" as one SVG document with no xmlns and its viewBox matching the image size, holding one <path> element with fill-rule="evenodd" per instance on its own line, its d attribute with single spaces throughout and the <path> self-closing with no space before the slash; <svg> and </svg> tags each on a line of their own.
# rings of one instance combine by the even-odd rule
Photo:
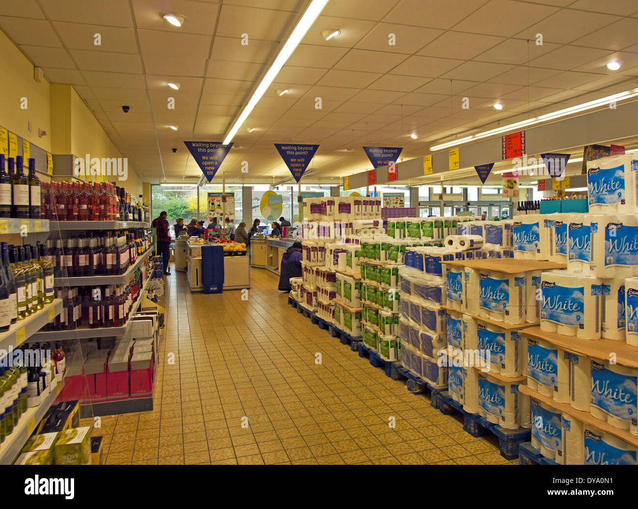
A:
<svg viewBox="0 0 638 509">
<path fill-rule="evenodd" d="M 450 29 L 488 0 L 403 0 L 383 21 L 420 27 Z"/>
</svg>

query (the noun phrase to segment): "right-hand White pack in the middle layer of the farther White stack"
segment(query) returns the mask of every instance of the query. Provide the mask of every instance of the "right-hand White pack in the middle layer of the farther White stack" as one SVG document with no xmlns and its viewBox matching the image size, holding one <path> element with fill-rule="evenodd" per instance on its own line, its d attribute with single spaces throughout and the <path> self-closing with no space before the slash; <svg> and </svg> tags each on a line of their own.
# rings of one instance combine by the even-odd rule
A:
<svg viewBox="0 0 638 509">
<path fill-rule="evenodd" d="M 492 373 L 511 377 L 521 375 L 527 359 L 524 348 L 527 343 L 521 343 L 521 336 L 516 330 L 496 327 L 480 320 L 477 323 L 477 350 Z"/>
</svg>

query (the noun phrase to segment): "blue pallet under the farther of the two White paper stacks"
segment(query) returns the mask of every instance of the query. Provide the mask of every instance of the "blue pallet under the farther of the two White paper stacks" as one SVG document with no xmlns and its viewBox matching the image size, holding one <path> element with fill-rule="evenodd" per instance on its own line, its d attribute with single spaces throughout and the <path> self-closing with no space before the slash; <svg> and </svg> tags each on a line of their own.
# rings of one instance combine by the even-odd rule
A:
<svg viewBox="0 0 638 509">
<path fill-rule="evenodd" d="M 501 456 L 507 459 L 516 459 L 519 457 L 519 445 L 523 442 L 530 441 L 531 430 L 529 428 L 506 429 L 489 422 L 477 413 L 468 413 L 463 406 L 452 399 L 448 391 L 441 392 L 441 413 L 449 415 L 453 409 L 463 414 L 463 430 L 467 431 L 471 436 L 480 437 L 491 433 L 498 438 Z"/>
</svg>

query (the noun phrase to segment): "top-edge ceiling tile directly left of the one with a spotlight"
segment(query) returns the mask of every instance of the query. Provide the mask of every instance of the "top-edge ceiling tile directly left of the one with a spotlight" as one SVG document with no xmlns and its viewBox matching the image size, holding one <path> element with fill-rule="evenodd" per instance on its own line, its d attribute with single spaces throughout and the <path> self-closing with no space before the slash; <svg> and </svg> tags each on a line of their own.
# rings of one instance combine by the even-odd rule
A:
<svg viewBox="0 0 638 509">
<path fill-rule="evenodd" d="M 39 0 L 45 15 L 54 21 L 71 21 L 113 27 L 133 27 L 126 0 Z"/>
</svg>

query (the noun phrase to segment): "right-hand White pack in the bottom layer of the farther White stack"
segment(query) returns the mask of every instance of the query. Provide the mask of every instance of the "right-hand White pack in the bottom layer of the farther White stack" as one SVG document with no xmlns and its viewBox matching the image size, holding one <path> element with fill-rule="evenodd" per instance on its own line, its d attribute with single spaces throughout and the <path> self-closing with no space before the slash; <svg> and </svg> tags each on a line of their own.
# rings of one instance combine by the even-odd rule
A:
<svg viewBox="0 0 638 509">
<path fill-rule="evenodd" d="M 479 415 L 505 429 L 517 429 L 519 424 L 519 391 L 517 383 L 498 380 L 479 373 Z"/>
</svg>

